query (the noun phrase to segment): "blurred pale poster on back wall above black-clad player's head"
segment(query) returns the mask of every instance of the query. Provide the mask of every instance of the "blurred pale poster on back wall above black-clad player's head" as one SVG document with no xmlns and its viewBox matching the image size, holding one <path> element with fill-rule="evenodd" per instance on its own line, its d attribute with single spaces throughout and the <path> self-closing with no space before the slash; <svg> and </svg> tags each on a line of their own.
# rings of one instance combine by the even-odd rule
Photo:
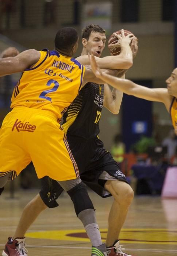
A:
<svg viewBox="0 0 177 256">
<path fill-rule="evenodd" d="M 111 29 L 112 3 L 85 3 L 82 11 L 82 27 L 97 24 L 106 32 Z"/>
</svg>

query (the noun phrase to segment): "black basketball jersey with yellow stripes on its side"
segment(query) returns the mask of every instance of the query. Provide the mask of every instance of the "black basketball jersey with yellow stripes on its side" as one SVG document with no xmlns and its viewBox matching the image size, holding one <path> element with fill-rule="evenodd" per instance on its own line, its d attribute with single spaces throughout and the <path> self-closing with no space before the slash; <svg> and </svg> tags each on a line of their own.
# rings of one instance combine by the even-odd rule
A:
<svg viewBox="0 0 177 256">
<path fill-rule="evenodd" d="M 103 108 L 104 85 L 87 83 L 63 116 L 63 128 L 67 135 L 81 138 L 96 137 Z"/>
</svg>

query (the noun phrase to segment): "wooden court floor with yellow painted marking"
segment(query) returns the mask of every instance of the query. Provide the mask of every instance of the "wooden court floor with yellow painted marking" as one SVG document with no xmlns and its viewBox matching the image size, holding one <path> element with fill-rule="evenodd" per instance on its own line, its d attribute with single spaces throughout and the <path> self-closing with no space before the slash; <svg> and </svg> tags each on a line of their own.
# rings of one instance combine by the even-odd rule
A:
<svg viewBox="0 0 177 256">
<path fill-rule="evenodd" d="M 38 193 L 17 191 L 15 199 L 4 192 L 0 197 L 0 255 L 8 236 L 13 236 L 23 207 Z M 103 241 L 112 198 L 101 199 L 89 192 L 96 208 Z M 67 194 L 58 200 L 59 207 L 46 209 L 26 234 L 28 255 L 90 256 L 91 244 L 76 218 Z M 160 197 L 135 197 L 120 234 L 121 245 L 135 256 L 177 255 L 177 200 Z"/>
</svg>

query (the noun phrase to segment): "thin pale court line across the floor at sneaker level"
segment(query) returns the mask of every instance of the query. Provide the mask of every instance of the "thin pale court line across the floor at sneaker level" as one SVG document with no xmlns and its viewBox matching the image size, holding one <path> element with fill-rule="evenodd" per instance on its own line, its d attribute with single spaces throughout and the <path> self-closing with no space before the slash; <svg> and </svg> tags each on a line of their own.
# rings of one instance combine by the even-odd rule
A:
<svg viewBox="0 0 177 256">
<path fill-rule="evenodd" d="M 4 246 L 4 244 L 0 244 Z M 38 247 L 38 248 L 66 248 L 66 249 L 91 249 L 91 247 L 78 247 L 78 246 L 63 246 L 63 245 L 27 245 L 27 248 Z M 163 250 L 163 249 L 135 249 L 135 248 L 126 248 L 126 251 L 144 251 L 144 252 L 176 252 L 177 250 Z"/>
</svg>

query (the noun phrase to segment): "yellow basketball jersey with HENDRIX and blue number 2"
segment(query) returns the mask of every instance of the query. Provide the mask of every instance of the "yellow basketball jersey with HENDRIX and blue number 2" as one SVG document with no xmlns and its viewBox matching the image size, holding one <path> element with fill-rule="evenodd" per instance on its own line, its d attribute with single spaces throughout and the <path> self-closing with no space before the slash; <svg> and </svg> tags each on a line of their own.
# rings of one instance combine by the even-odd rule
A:
<svg viewBox="0 0 177 256">
<path fill-rule="evenodd" d="M 81 88 L 85 67 L 57 51 L 40 51 L 39 61 L 16 84 L 11 108 L 25 106 L 53 112 L 59 119 Z"/>
</svg>

